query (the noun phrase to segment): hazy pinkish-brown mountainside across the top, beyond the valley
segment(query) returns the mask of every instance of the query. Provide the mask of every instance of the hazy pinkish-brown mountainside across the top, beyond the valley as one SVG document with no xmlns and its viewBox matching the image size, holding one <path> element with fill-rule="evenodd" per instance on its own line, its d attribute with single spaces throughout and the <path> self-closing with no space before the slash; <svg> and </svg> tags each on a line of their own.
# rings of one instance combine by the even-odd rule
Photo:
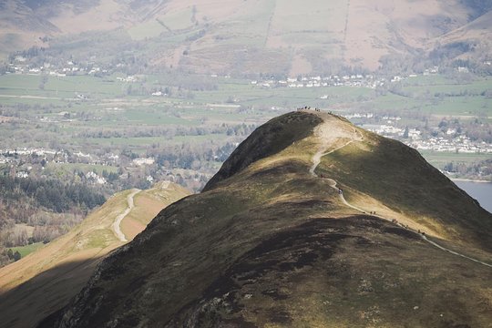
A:
<svg viewBox="0 0 492 328">
<path fill-rule="evenodd" d="M 133 40 L 163 42 L 151 54 L 155 65 L 295 76 L 333 65 L 374 69 L 384 56 L 425 54 L 490 7 L 474 0 L 7 0 L 0 43 L 6 52 L 47 46 L 56 36 L 123 29 Z M 490 20 L 481 21 L 489 33 Z M 455 35 L 461 42 L 470 37 Z M 483 46 L 463 55 L 487 54 L 486 35 L 473 40 Z"/>
</svg>

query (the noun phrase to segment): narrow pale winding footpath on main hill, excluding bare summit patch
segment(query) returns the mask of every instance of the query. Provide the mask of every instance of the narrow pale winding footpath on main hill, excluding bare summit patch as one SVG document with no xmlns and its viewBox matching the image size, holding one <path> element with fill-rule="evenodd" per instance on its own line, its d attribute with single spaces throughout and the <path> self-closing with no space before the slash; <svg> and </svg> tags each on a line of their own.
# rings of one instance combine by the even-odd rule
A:
<svg viewBox="0 0 492 328">
<path fill-rule="evenodd" d="M 362 137 L 361 137 L 361 139 L 362 139 Z M 343 149 L 344 147 L 350 145 L 354 141 L 355 141 L 354 139 L 353 140 L 350 140 L 350 141 L 346 142 L 345 144 L 343 144 L 342 146 L 340 146 L 340 147 L 338 147 L 336 149 L 330 150 L 328 152 L 324 152 L 326 149 L 320 149 L 318 152 L 316 152 L 316 154 L 313 155 L 313 166 L 311 167 L 311 169 L 309 169 L 309 172 L 311 173 L 311 175 L 313 175 L 313 177 L 318 178 L 318 175 L 314 172 L 314 170 L 321 163 L 321 159 L 322 159 L 323 156 L 329 155 L 329 154 L 333 153 L 336 150 Z M 336 181 L 334 179 L 328 179 L 328 178 L 324 178 L 324 179 L 326 179 L 326 180 L 329 181 L 330 187 L 332 187 L 333 189 L 335 189 L 335 190 L 338 191 L 338 187 L 336 187 Z M 346 206 L 348 206 L 348 207 L 350 207 L 350 208 L 352 208 L 354 210 L 358 210 L 358 211 L 360 211 L 360 212 L 362 212 L 362 213 L 365 214 L 365 210 L 359 209 L 358 207 L 350 204 L 347 200 L 345 200 L 345 198 L 343 197 L 343 192 L 342 193 L 339 193 L 339 196 L 340 196 L 340 200 L 342 200 L 343 204 L 345 204 Z M 378 217 L 380 219 L 383 219 L 383 220 L 392 221 L 392 220 L 389 220 L 387 218 L 384 218 L 384 217 L 382 217 L 380 215 L 375 215 L 375 214 L 372 214 L 372 215 L 374 215 L 374 216 L 376 216 L 376 217 Z M 405 227 L 403 224 L 397 223 L 397 225 L 400 226 L 400 227 L 402 227 L 402 228 L 404 228 L 404 229 L 406 229 L 406 230 L 408 230 L 408 231 L 413 231 L 413 230 Z M 466 256 L 464 254 L 461 254 L 461 253 L 459 253 L 457 251 L 449 250 L 446 247 L 443 247 L 443 246 L 439 245 L 435 241 L 430 241 L 429 239 L 427 239 L 427 237 L 424 234 L 420 234 L 420 233 L 418 233 L 416 231 L 413 231 L 413 232 L 415 232 L 416 234 L 418 234 L 424 241 L 427 241 L 428 243 L 430 243 L 431 245 L 435 246 L 436 248 L 438 248 L 438 249 L 440 249 L 442 251 L 447 251 L 447 252 L 449 252 L 451 254 L 454 254 L 456 256 L 460 256 L 460 257 L 465 258 L 467 260 L 475 261 L 475 262 L 477 262 L 479 264 L 482 264 L 482 265 L 485 265 L 485 266 L 487 266 L 489 268 L 492 268 L 492 265 L 491 264 L 488 264 L 488 263 L 486 263 L 484 261 L 479 261 L 477 259 L 471 258 L 471 257 Z"/>
</svg>

